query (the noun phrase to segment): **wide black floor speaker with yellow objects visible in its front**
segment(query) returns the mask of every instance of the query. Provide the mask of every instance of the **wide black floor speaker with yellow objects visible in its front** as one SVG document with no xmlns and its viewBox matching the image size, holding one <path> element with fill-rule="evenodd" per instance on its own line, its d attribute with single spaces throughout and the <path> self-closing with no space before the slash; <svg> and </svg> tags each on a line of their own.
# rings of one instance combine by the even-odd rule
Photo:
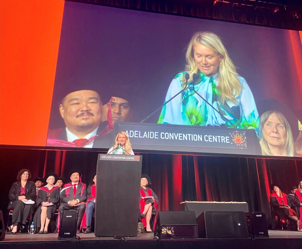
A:
<svg viewBox="0 0 302 249">
<path fill-rule="evenodd" d="M 159 211 L 154 236 L 159 238 L 198 238 L 194 211 Z"/>
</svg>

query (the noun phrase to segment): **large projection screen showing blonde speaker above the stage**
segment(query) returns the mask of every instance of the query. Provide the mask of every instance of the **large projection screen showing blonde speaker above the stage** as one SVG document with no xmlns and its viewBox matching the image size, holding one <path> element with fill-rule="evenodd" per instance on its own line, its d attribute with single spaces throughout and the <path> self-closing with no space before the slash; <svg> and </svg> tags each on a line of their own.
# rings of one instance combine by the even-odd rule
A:
<svg viewBox="0 0 302 249">
<path fill-rule="evenodd" d="M 299 32 L 65 2 L 47 146 L 302 156 Z"/>
</svg>

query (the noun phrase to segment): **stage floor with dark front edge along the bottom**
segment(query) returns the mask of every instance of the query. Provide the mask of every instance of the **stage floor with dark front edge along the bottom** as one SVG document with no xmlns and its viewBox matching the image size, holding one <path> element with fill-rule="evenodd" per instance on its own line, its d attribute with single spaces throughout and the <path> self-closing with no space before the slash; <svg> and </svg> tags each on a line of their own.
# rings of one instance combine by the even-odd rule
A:
<svg viewBox="0 0 302 249">
<path fill-rule="evenodd" d="M 29 235 L 6 234 L 0 248 L 300 248 L 302 233 L 298 231 L 268 231 L 269 238 L 232 238 L 232 239 L 153 239 L 153 234 L 139 233 L 137 237 L 119 241 L 114 238 L 96 238 L 94 234 L 78 234 L 80 240 L 57 240 L 57 234 Z"/>
</svg>

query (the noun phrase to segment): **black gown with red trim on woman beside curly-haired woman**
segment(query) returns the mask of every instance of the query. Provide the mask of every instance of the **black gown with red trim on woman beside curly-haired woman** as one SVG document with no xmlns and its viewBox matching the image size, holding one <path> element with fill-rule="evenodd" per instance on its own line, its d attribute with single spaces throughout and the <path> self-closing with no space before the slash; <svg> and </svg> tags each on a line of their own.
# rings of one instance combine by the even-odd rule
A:
<svg viewBox="0 0 302 249">
<path fill-rule="evenodd" d="M 36 205 L 37 205 L 37 211 L 34 215 L 34 225 L 36 227 L 41 227 L 41 207 L 42 202 L 47 201 L 47 193 L 50 193 L 50 200 L 49 202 L 52 202 L 52 206 L 47 207 L 47 218 L 51 218 L 52 215 L 56 212 L 56 209 L 58 208 L 59 202 L 60 202 L 60 188 L 57 186 L 54 186 L 51 190 L 48 190 L 47 187 L 41 187 L 37 196 Z"/>
</svg>

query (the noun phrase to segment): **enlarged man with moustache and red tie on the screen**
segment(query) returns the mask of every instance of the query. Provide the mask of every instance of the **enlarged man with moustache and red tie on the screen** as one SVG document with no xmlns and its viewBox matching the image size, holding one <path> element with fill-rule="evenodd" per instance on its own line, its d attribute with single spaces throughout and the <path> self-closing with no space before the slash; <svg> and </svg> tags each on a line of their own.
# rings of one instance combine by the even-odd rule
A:
<svg viewBox="0 0 302 249">
<path fill-rule="evenodd" d="M 102 123 L 102 101 L 98 92 L 70 92 L 61 101 L 59 112 L 66 127 L 49 131 L 47 146 L 92 148 L 95 140 L 101 139 L 99 146 L 111 141 L 104 139 L 113 128 L 107 122 Z"/>
</svg>

